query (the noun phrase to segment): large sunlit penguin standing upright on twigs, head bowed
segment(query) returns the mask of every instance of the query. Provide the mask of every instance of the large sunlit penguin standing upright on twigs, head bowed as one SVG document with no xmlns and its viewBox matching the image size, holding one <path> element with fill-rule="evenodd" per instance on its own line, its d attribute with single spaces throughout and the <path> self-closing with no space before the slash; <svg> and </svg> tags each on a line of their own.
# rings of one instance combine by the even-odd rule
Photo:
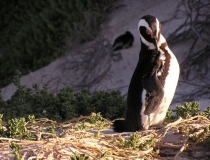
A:
<svg viewBox="0 0 210 160">
<path fill-rule="evenodd" d="M 173 99 L 179 64 L 160 33 L 161 24 L 151 15 L 138 24 L 139 61 L 130 81 L 125 120 L 114 121 L 114 131 L 135 132 L 161 124 Z"/>
</svg>

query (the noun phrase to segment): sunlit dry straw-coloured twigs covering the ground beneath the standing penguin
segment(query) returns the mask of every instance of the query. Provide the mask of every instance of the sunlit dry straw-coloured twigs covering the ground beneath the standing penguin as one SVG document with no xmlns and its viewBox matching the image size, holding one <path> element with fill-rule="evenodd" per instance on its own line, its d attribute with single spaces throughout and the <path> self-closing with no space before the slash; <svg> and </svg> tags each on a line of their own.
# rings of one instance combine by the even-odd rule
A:
<svg viewBox="0 0 210 160">
<path fill-rule="evenodd" d="M 176 159 L 201 151 L 202 156 L 210 158 L 204 143 L 210 137 L 206 130 L 210 120 L 206 117 L 179 118 L 161 128 L 119 134 L 110 129 L 112 123 L 104 118 L 92 123 L 94 116 L 64 123 L 36 119 L 27 124 L 36 139 L 0 138 L 0 159 Z M 54 127 L 53 133 L 47 132 L 49 126 Z"/>
</svg>

